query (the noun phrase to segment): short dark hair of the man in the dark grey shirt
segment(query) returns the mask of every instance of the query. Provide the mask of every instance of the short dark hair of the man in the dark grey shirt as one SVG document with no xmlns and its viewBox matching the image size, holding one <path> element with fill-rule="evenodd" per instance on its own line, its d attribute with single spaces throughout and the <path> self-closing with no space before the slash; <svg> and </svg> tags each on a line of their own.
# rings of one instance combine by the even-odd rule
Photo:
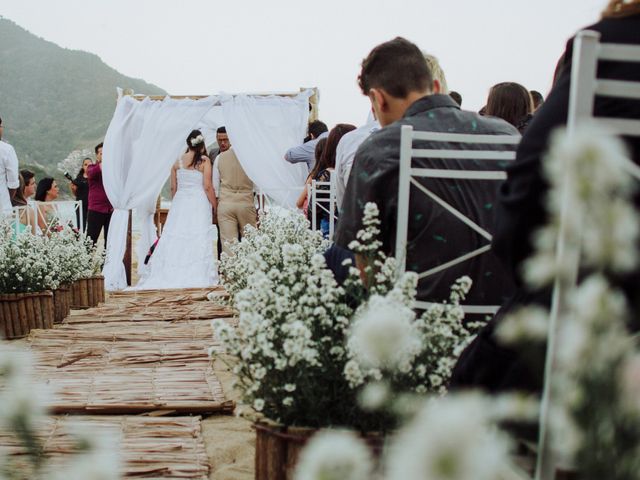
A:
<svg viewBox="0 0 640 480">
<path fill-rule="evenodd" d="M 406 98 L 410 92 L 428 91 L 433 76 L 420 49 L 396 37 L 375 47 L 362 61 L 358 84 L 364 95 L 381 88 L 392 97 Z"/>
</svg>

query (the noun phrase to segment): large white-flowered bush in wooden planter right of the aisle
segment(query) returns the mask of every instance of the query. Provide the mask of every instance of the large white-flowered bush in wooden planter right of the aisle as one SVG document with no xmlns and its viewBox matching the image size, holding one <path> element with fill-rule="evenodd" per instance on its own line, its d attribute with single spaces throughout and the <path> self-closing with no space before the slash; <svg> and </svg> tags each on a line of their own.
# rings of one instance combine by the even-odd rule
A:
<svg viewBox="0 0 640 480">
<path fill-rule="evenodd" d="M 321 236 L 294 212 L 263 215 L 260 227 L 232 246 L 232 257 L 223 258 L 222 276 L 239 320 L 235 328 L 214 321 L 214 329 L 244 402 L 258 413 L 257 478 L 285 478 L 283 470 L 293 468 L 296 452 L 317 428 L 351 428 L 381 448 L 384 433 L 397 421 L 358 405 L 365 380 L 441 393 L 453 352 L 468 341 L 458 305 L 470 287 L 468 279 L 454 287 L 454 305 L 438 305 L 416 321 L 411 306 L 417 277 L 409 272 L 396 278 L 395 260 L 380 252 L 378 216 L 375 204 L 368 204 L 364 229 L 350 245 L 365 260 L 364 280 L 351 266 L 343 286 L 320 254 L 326 246 Z M 354 316 L 355 329 L 366 326 L 366 319 L 389 301 L 391 310 L 404 312 L 405 333 L 428 339 L 424 346 L 412 343 L 401 374 L 365 365 L 355 345 L 347 343 Z M 383 327 L 387 333 L 394 329 Z M 413 367 L 416 374 L 407 370 Z M 288 458 L 288 466 L 278 464 L 276 451 Z"/>
</svg>

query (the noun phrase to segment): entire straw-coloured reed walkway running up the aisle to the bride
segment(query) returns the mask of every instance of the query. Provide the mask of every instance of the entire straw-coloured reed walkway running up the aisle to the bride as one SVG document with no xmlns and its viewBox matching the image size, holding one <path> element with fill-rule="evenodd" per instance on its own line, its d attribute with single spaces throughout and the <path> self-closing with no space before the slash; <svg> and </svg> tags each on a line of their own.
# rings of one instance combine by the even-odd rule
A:
<svg viewBox="0 0 640 480">
<path fill-rule="evenodd" d="M 182 415 L 235 408 L 208 356 L 216 347 L 211 319 L 233 321 L 233 312 L 207 301 L 211 291 L 117 293 L 53 329 L 32 331 L 26 344 L 35 374 L 51 387 L 53 412 L 62 415 L 41 425 L 53 464 L 72 453 L 67 425 L 78 420 L 120 431 L 123 478 L 209 478 L 201 417 Z M 0 454 L 20 459 L 16 448 L 0 433 Z"/>
</svg>

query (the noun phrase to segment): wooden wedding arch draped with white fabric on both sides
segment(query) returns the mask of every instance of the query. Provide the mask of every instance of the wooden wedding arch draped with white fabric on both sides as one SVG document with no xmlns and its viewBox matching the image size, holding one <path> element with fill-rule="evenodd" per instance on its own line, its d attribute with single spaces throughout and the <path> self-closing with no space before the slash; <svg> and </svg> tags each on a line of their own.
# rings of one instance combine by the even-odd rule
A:
<svg viewBox="0 0 640 480">
<path fill-rule="evenodd" d="M 118 89 L 103 148 L 103 181 L 114 208 L 103 269 L 105 288 L 114 291 L 127 286 L 123 258 L 133 209 L 141 225 L 135 254 L 138 264 L 143 264 L 156 238 L 156 199 L 194 128 L 202 130 L 209 145 L 216 129 L 226 126 L 256 188 L 272 203 L 293 207 L 295 189 L 303 188 L 307 170 L 305 165 L 287 163 L 284 154 L 302 142 L 310 112 L 315 116 L 317 111 L 317 99 L 317 89 L 211 96 L 145 96 Z"/>
</svg>

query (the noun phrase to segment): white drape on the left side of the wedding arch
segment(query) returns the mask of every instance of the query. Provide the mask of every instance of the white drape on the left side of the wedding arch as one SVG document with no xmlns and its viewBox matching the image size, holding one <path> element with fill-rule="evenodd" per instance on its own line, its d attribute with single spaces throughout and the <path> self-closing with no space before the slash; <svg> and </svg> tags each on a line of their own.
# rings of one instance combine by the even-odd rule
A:
<svg viewBox="0 0 640 480">
<path fill-rule="evenodd" d="M 103 182 L 114 212 L 109 224 L 107 258 L 103 269 L 105 288 L 127 286 L 122 259 L 126 250 L 129 210 L 141 220 L 138 260 L 144 259 L 156 238 L 153 214 L 156 199 L 171 165 L 186 149 L 185 139 L 206 115 L 216 97 L 202 100 L 118 100 L 103 149 Z"/>
</svg>

